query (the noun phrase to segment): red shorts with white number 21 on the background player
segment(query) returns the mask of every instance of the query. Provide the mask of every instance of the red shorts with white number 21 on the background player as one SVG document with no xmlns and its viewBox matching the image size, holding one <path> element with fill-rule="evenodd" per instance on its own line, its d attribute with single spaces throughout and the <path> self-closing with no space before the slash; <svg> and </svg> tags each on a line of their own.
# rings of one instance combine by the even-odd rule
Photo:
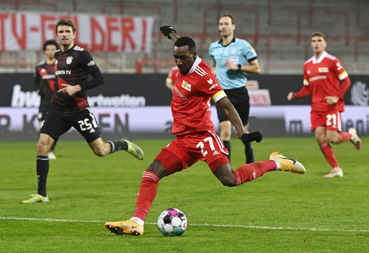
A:
<svg viewBox="0 0 369 253">
<path fill-rule="evenodd" d="M 318 126 L 325 126 L 330 131 L 342 131 L 341 112 L 332 110 L 329 112 L 311 112 L 311 130 Z"/>
</svg>

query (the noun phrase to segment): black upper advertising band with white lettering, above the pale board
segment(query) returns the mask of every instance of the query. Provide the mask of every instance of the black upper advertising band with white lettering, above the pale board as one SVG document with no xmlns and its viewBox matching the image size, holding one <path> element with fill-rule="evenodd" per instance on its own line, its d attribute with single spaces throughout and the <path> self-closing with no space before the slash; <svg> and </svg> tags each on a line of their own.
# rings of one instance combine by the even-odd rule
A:
<svg viewBox="0 0 369 253">
<path fill-rule="evenodd" d="M 369 76 L 349 77 L 352 85 L 345 93 L 345 104 L 355 104 L 351 98 L 353 92 L 358 100 L 356 104 L 368 105 Z M 248 75 L 248 78 L 258 81 L 260 89 L 269 90 L 272 105 L 310 105 L 309 97 L 291 102 L 286 99 L 288 92 L 297 92 L 302 87 L 302 75 Z M 165 79 L 165 74 L 104 74 L 105 84 L 87 91 L 90 106 L 170 105 L 172 93 L 165 87 Z M 37 107 L 37 94 L 32 93 L 32 83 L 33 75 L 29 73 L 1 74 L 0 107 Z"/>
</svg>

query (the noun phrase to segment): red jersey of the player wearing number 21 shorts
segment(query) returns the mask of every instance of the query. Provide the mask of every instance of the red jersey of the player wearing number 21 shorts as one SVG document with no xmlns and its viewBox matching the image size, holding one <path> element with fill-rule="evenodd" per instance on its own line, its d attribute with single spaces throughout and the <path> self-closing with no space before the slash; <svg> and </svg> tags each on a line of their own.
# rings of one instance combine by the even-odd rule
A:
<svg viewBox="0 0 369 253">
<path fill-rule="evenodd" d="M 333 55 L 323 52 L 316 59 L 314 56 L 304 63 L 304 85 L 308 85 L 311 97 L 311 111 L 344 111 L 344 100 L 339 98 L 334 105 L 328 105 L 326 96 L 337 96 L 340 81 L 348 77 L 341 61 Z"/>
</svg>

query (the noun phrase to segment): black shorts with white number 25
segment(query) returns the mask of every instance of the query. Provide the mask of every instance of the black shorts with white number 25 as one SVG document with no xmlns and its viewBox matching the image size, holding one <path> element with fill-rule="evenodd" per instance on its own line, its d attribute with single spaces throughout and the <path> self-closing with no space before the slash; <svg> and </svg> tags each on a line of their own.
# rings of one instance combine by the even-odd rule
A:
<svg viewBox="0 0 369 253">
<path fill-rule="evenodd" d="M 59 136 L 74 127 L 90 143 L 100 138 L 99 127 L 89 107 L 78 113 L 58 113 L 50 110 L 42 121 L 40 133 L 57 141 Z"/>
</svg>

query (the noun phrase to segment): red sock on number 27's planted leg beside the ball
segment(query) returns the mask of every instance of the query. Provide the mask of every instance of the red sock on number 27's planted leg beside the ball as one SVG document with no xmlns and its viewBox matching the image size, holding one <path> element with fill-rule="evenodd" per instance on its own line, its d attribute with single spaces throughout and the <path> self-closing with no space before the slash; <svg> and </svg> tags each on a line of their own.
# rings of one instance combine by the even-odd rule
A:
<svg viewBox="0 0 369 253">
<path fill-rule="evenodd" d="M 149 170 L 144 171 L 141 188 L 139 188 L 137 195 L 136 211 L 133 217 L 140 218 L 141 220 L 146 219 L 150 206 L 156 196 L 159 180 L 160 178 L 156 173 Z"/>
</svg>

